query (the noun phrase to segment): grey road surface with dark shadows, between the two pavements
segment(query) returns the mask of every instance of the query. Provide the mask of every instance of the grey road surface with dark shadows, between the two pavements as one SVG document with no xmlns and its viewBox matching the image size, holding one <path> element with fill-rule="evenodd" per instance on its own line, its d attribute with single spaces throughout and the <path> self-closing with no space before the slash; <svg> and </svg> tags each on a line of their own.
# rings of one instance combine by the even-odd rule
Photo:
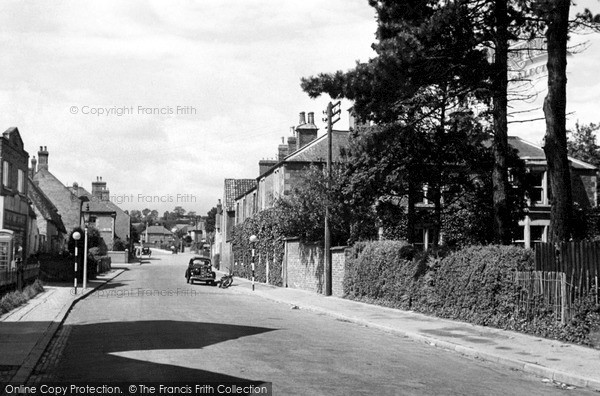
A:
<svg viewBox="0 0 600 396">
<path fill-rule="evenodd" d="M 225 290 L 188 285 L 189 257 L 153 255 L 80 301 L 31 381 L 252 380 L 272 382 L 281 395 L 565 392 L 502 366 L 236 292 L 235 283 Z"/>
</svg>

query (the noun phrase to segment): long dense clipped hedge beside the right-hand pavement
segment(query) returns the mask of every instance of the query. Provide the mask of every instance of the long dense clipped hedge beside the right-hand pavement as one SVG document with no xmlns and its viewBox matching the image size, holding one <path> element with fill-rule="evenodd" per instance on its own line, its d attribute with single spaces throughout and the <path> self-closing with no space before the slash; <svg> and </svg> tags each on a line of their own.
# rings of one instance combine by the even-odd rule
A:
<svg viewBox="0 0 600 396">
<path fill-rule="evenodd" d="M 350 299 L 600 347 L 600 305 L 594 295 L 574 305 L 565 326 L 550 309 L 534 315 L 522 311 L 514 274 L 533 268 L 533 251 L 517 246 L 415 253 L 403 241 L 359 243 L 346 257 L 344 293 Z"/>
</svg>

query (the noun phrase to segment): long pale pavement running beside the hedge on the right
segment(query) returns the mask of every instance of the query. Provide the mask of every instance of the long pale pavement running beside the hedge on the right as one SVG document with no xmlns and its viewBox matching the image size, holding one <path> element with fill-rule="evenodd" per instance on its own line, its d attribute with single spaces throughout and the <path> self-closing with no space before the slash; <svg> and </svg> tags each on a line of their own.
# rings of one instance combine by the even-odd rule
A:
<svg viewBox="0 0 600 396">
<path fill-rule="evenodd" d="M 600 391 L 600 350 L 476 326 L 298 289 L 234 278 L 231 291 L 255 294 L 290 308 L 307 309 L 400 334 L 415 341 L 500 363 L 560 383 Z"/>
</svg>

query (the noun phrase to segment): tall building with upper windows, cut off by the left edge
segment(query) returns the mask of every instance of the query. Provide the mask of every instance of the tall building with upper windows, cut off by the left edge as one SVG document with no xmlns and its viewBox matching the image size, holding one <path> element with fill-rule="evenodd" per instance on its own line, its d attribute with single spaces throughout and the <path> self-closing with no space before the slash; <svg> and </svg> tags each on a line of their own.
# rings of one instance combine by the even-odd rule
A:
<svg viewBox="0 0 600 396">
<path fill-rule="evenodd" d="M 7 129 L 0 137 L 0 162 L 0 234 L 3 236 L 0 271 L 3 271 L 15 268 L 14 259 L 19 251 L 23 260 L 27 259 L 31 251 L 30 234 L 37 228 L 27 197 L 29 154 L 16 127 Z"/>
</svg>

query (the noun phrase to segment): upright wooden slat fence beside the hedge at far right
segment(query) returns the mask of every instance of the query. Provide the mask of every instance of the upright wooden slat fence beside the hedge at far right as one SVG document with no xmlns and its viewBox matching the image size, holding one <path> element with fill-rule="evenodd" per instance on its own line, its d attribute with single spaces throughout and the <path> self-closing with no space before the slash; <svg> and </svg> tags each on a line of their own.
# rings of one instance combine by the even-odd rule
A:
<svg viewBox="0 0 600 396">
<path fill-rule="evenodd" d="M 600 241 L 536 244 L 535 271 L 515 273 L 517 309 L 528 316 L 550 311 L 564 324 L 577 300 L 593 294 L 598 303 L 599 275 Z"/>
</svg>

